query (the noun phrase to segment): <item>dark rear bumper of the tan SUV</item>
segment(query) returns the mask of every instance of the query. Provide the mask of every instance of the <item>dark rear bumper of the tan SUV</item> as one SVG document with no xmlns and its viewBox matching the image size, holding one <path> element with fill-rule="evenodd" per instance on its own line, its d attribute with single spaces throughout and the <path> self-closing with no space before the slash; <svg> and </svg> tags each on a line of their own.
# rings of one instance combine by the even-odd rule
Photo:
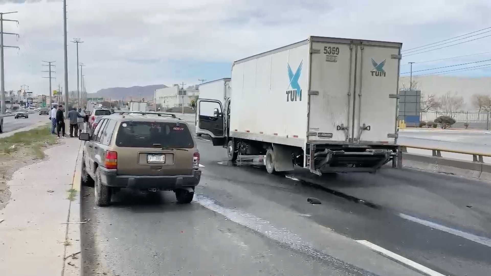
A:
<svg viewBox="0 0 491 276">
<path fill-rule="evenodd" d="M 115 169 L 101 168 L 101 182 L 105 186 L 160 190 L 175 190 L 184 187 L 194 187 L 201 179 L 200 170 L 192 170 L 191 175 L 163 175 L 163 176 L 139 176 L 139 175 L 117 175 Z"/>
</svg>

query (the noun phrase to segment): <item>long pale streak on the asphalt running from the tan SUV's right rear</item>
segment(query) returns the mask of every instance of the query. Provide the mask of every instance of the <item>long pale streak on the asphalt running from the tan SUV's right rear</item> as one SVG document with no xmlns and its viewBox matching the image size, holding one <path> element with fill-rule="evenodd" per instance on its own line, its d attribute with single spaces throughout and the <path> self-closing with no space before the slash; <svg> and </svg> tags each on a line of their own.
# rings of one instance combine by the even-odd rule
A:
<svg viewBox="0 0 491 276">
<path fill-rule="evenodd" d="M 342 272 L 340 275 L 375 276 L 375 274 L 369 271 L 346 263 L 327 253 L 324 253 L 323 251 L 315 249 L 312 243 L 305 241 L 298 234 L 286 228 L 276 228 L 270 221 L 266 221 L 260 217 L 239 211 L 237 209 L 230 209 L 220 206 L 215 202 L 215 200 L 202 194 L 195 193 L 193 201 L 235 223 L 257 231 L 267 238 L 275 240 L 284 246 L 300 251 L 301 253 L 307 254 L 329 264 L 333 269 L 340 270 L 340 272 Z"/>
</svg>

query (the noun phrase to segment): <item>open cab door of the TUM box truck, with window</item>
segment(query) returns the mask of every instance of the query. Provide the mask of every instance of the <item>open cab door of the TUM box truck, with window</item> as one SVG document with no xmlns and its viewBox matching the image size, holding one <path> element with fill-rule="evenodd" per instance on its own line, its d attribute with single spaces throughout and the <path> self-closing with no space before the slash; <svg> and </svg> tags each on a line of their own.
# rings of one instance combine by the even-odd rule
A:
<svg viewBox="0 0 491 276">
<path fill-rule="evenodd" d="M 221 102 L 212 99 L 199 99 L 196 109 L 196 133 L 203 133 L 212 138 L 214 146 L 224 145 L 225 124 Z"/>
</svg>

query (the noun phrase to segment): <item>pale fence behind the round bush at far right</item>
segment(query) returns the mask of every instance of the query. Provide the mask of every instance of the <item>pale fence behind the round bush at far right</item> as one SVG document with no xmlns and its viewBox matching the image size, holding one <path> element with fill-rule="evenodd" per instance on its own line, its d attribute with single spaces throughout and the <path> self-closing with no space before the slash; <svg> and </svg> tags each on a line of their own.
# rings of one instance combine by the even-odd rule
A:
<svg viewBox="0 0 491 276">
<path fill-rule="evenodd" d="M 450 116 L 455 119 L 455 127 L 463 127 L 464 123 L 469 124 L 471 128 L 483 128 L 490 129 L 490 119 L 491 115 L 488 112 L 448 112 L 442 111 L 428 111 L 421 112 L 421 121 L 433 122 L 439 116 Z"/>
</svg>

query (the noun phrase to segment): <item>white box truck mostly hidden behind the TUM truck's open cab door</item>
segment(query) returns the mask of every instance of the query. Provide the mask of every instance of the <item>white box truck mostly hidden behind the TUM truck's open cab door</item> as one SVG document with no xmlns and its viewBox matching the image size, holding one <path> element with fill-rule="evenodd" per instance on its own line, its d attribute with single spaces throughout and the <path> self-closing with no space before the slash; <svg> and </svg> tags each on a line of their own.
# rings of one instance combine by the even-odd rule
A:
<svg viewBox="0 0 491 276">
<path fill-rule="evenodd" d="M 220 101 L 221 105 L 224 107 L 228 98 L 231 96 L 230 78 L 223 78 L 208 83 L 199 84 L 199 97 L 204 99 L 215 99 Z M 201 114 L 213 116 L 215 105 L 213 104 L 203 104 L 201 108 Z M 196 135 L 201 136 L 206 134 L 198 131 L 196 128 Z"/>
</svg>

